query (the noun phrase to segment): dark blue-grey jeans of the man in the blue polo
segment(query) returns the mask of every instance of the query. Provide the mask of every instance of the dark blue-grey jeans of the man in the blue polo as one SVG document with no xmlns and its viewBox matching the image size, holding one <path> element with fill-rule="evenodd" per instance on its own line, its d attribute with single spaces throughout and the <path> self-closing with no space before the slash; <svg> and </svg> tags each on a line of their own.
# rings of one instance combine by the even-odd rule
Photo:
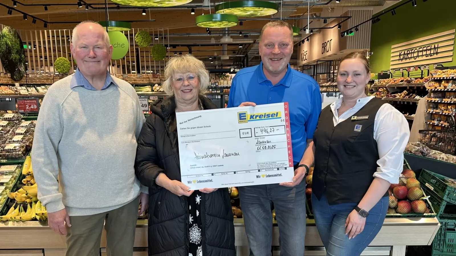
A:
<svg viewBox="0 0 456 256">
<path fill-rule="evenodd" d="M 306 182 L 238 187 L 250 256 L 270 256 L 272 211 L 279 225 L 280 256 L 303 256 L 306 236 Z"/>
</svg>

